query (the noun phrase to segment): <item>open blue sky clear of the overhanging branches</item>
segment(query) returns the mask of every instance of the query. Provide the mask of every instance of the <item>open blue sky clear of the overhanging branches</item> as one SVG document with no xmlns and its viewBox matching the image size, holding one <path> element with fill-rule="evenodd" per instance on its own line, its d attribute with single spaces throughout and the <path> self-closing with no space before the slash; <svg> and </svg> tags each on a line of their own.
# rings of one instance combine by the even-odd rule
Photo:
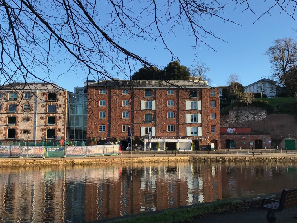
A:
<svg viewBox="0 0 297 223">
<path fill-rule="evenodd" d="M 255 3 L 257 2 L 257 3 Z M 222 40 L 209 37 L 208 43 L 216 51 L 208 49 L 206 45 L 200 44 L 198 48 L 198 57 L 206 63 L 210 68 L 207 76 L 211 78 L 211 85 L 225 85 L 226 79 L 231 73 L 237 73 L 241 77 L 241 83 L 245 86 L 255 82 L 260 77 L 270 76 L 270 63 L 268 57 L 263 55 L 275 39 L 283 37 L 296 37 L 293 29 L 297 28 L 296 20 L 290 18 L 287 14 L 278 8 L 271 10 L 269 14 L 264 15 L 255 24 L 253 24 L 264 10 L 267 10 L 267 4 L 270 2 L 253 1 L 252 9 L 257 15 L 250 11 L 241 13 L 240 8 L 233 12 L 234 8 L 230 7 L 225 10 L 224 16 L 230 18 L 243 26 L 233 23 L 223 22 L 218 19 L 207 19 L 202 24 Z M 240 7 L 240 6 L 238 6 Z M 296 19 L 296 13 L 295 13 Z M 180 27 L 175 29 L 175 35 L 166 36 L 165 40 L 170 49 L 178 56 L 181 64 L 190 67 L 194 61 L 195 51 L 192 48 L 194 39 L 189 37 L 187 29 Z M 157 65 L 166 66 L 171 60 L 171 56 L 164 45 L 154 42 L 143 42 L 128 40 L 124 43 L 124 47 L 140 56 L 146 57 L 149 61 Z M 199 59 L 196 59 L 198 62 Z M 195 64 L 195 62 L 194 62 Z M 136 66 L 140 68 L 140 66 Z M 86 75 L 83 71 L 72 73 L 71 78 L 66 76 L 53 76 L 52 80 L 56 80 L 57 84 L 73 91 L 73 87 L 83 86 Z M 124 78 L 124 76 L 115 76 Z"/>
</svg>

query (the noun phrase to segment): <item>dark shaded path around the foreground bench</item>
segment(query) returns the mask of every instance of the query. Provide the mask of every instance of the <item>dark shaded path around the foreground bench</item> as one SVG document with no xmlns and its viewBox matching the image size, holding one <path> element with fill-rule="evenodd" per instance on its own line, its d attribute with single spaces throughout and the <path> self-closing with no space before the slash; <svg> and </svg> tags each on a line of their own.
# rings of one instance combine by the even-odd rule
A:
<svg viewBox="0 0 297 223">
<path fill-rule="evenodd" d="M 212 214 L 210 216 L 193 219 L 193 223 L 268 223 L 266 220 L 267 211 L 248 208 L 243 212 L 226 212 L 221 214 Z M 297 223 L 297 207 L 288 208 L 275 213 L 276 223 Z"/>
</svg>

